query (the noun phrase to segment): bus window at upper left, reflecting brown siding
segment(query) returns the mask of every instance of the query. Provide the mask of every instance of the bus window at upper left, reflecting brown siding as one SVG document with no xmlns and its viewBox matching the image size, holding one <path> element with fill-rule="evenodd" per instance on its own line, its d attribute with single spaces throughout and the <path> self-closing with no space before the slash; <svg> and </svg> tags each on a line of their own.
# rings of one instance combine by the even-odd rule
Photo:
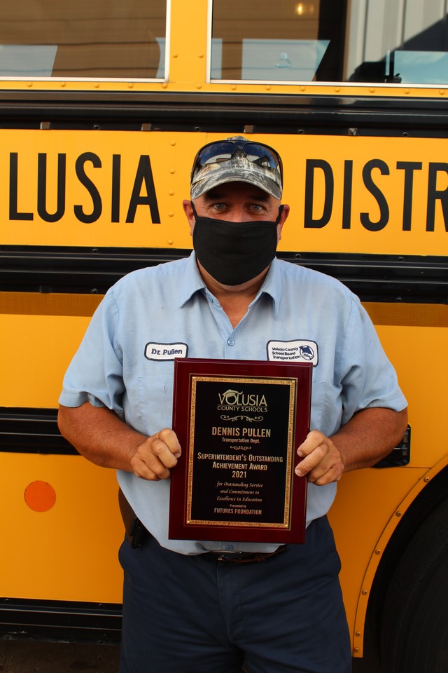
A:
<svg viewBox="0 0 448 673">
<path fill-rule="evenodd" d="M 16 0 L 0 8 L 0 76 L 164 76 L 166 0 Z"/>
</svg>

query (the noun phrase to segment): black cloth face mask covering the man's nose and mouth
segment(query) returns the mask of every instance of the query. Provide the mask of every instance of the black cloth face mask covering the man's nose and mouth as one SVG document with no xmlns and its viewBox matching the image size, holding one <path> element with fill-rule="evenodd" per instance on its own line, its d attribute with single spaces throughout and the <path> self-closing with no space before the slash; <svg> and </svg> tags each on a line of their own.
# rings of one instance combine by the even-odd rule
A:
<svg viewBox="0 0 448 673">
<path fill-rule="evenodd" d="M 199 217 L 193 201 L 192 206 L 196 221 L 193 230 L 196 257 L 218 283 L 241 285 L 256 278 L 272 262 L 283 205 L 275 222 L 228 222 Z"/>
</svg>

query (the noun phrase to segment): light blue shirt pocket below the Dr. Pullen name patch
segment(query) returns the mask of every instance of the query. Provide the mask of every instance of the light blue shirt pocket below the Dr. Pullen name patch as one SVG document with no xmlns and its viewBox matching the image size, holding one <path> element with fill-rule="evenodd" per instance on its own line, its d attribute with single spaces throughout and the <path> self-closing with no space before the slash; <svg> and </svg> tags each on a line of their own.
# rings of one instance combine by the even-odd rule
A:
<svg viewBox="0 0 448 673">
<path fill-rule="evenodd" d="M 141 432 L 148 437 L 172 427 L 173 379 L 167 376 L 138 376 L 137 415 Z"/>
</svg>

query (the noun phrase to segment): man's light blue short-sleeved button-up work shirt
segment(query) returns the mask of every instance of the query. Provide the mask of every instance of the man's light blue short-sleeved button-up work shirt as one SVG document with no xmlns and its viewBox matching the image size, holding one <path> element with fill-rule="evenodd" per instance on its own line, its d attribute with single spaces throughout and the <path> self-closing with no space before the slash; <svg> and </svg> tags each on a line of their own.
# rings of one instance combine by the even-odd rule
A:
<svg viewBox="0 0 448 673">
<path fill-rule="evenodd" d="M 337 280 L 274 259 L 235 329 L 188 259 L 130 273 L 95 312 L 59 402 L 108 407 L 151 436 L 172 425 L 174 358 L 312 362 L 311 428 L 334 434 L 366 407 L 406 406 L 395 371 L 358 297 Z M 169 480 L 118 471 L 137 516 L 183 554 L 273 551 L 278 545 L 168 538 Z M 328 512 L 336 484 L 308 485 L 307 524 Z"/>
</svg>

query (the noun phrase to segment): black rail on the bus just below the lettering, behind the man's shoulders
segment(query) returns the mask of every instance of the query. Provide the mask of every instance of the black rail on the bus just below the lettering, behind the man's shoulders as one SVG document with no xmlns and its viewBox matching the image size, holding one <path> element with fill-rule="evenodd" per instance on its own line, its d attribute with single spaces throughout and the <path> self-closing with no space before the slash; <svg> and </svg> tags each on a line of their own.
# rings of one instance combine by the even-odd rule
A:
<svg viewBox="0 0 448 673">
<path fill-rule="evenodd" d="M 3 245 L 0 292 L 104 294 L 130 271 L 188 254 L 180 249 Z M 337 278 L 362 301 L 448 301 L 447 257 L 319 252 L 279 252 L 278 257 Z"/>
</svg>

